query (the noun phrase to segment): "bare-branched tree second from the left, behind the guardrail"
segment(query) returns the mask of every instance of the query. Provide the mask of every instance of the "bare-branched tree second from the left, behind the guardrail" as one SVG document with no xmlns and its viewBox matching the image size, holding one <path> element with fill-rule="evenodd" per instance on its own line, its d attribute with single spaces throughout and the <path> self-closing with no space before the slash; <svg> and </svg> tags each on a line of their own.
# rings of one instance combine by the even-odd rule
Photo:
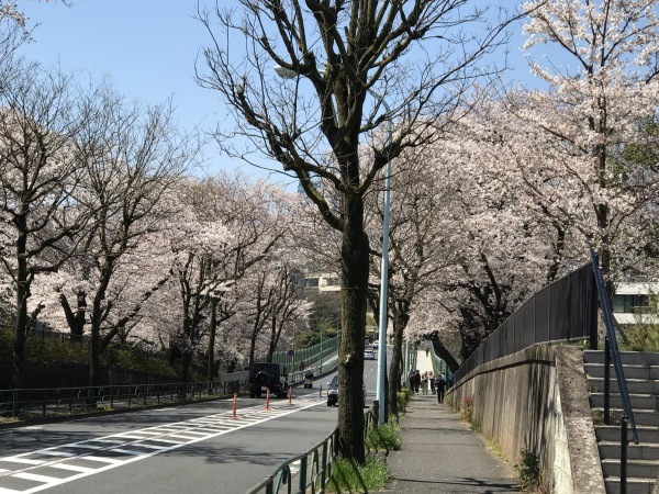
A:
<svg viewBox="0 0 659 494">
<path fill-rule="evenodd" d="M 91 228 L 78 259 L 91 290 L 77 291 L 76 300 L 78 307 L 81 304 L 86 307 L 86 297 L 91 297 L 91 307 L 86 311 L 91 333 L 90 384 L 97 385 L 100 352 L 138 314 L 142 303 L 166 282 L 169 273 L 161 273 L 139 295 L 132 293 L 135 297 L 127 301 L 129 311 L 110 318 L 124 287 L 115 284 L 111 290 L 113 278 L 122 257 L 144 248 L 144 240 L 150 239 L 149 233 L 172 214 L 163 198 L 193 162 L 196 149 L 190 136 L 177 135 L 169 105 L 127 104 L 110 88 L 102 88 L 93 96 L 89 113 L 97 117 L 86 122 L 77 142 L 86 172 L 81 200 L 93 211 Z M 129 261 L 135 258 L 132 256 Z M 130 266 L 135 265 L 124 265 L 124 277 L 131 271 L 136 274 Z M 77 319 L 71 317 L 64 292 L 59 299 L 70 326 L 71 319 Z"/>
</svg>

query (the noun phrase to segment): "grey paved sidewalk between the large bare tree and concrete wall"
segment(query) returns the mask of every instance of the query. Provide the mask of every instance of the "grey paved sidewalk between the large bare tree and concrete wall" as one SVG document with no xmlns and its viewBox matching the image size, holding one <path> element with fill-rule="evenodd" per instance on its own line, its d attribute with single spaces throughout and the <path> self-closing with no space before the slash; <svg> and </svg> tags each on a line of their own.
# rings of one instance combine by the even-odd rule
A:
<svg viewBox="0 0 659 494">
<path fill-rule="evenodd" d="M 521 492 L 513 467 L 436 395 L 416 394 L 401 418 L 403 448 L 388 458 L 389 493 Z"/>
</svg>

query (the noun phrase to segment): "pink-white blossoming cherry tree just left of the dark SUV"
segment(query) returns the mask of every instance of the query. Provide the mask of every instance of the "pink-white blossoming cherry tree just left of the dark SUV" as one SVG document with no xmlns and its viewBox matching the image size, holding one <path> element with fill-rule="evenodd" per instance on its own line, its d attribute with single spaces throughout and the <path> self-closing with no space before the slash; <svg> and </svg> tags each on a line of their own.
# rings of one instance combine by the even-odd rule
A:
<svg viewBox="0 0 659 494">
<path fill-rule="evenodd" d="M 182 190 L 181 203 L 189 209 L 171 239 L 182 326 L 171 335 L 171 349 L 182 358 L 185 379 L 206 334 L 202 323 L 211 305 L 220 303 L 287 232 L 281 199 L 273 186 L 250 184 L 241 177 L 191 182 Z M 213 340 L 208 344 L 214 348 Z"/>
</svg>

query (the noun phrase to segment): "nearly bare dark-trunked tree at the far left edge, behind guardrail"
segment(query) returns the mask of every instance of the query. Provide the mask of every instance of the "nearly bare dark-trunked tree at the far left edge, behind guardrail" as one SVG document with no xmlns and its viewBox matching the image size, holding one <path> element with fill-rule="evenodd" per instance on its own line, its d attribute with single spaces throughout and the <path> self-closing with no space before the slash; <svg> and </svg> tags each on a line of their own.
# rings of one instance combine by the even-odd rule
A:
<svg viewBox="0 0 659 494">
<path fill-rule="evenodd" d="M 0 91 L 0 260 L 13 280 L 13 380 L 20 386 L 35 276 L 56 271 L 89 220 L 79 207 L 85 162 L 75 147 L 89 119 L 83 92 L 63 74 L 22 66 Z"/>
</svg>

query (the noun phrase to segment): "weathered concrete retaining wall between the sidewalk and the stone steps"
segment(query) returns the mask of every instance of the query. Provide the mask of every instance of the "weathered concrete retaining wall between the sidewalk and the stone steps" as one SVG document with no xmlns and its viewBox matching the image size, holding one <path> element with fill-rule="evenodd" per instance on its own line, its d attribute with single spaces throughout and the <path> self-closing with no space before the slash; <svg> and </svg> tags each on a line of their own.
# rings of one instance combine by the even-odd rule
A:
<svg viewBox="0 0 659 494">
<path fill-rule="evenodd" d="M 512 463 L 533 451 L 551 492 L 589 494 L 605 490 L 588 395 L 581 349 L 536 346 L 473 370 L 446 401 L 471 402 L 481 434 Z"/>
</svg>

